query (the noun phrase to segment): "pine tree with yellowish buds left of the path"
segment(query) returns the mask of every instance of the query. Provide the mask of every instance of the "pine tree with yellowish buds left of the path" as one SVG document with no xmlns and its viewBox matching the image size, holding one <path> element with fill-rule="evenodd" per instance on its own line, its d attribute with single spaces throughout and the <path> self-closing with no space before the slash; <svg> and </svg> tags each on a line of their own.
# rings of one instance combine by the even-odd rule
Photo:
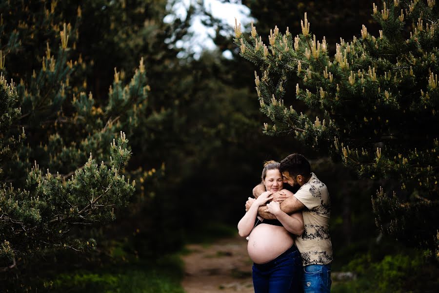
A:
<svg viewBox="0 0 439 293">
<path fill-rule="evenodd" d="M 84 72 L 93 61 L 86 63 L 76 48 L 82 10 L 73 6 L 69 14 L 57 7 L 57 1 L 1 3 L 3 271 L 28 254 L 96 247 L 81 227 L 114 220 L 135 190 L 123 175 L 131 149 L 120 129 L 132 132 L 140 120 L 160 120 L 148 107 L 143 60 L 128 83 L 114 70 L 106 101 L 86 94 Z M 73 24 L 64 22 L 69 17 Z"/>
</svg>

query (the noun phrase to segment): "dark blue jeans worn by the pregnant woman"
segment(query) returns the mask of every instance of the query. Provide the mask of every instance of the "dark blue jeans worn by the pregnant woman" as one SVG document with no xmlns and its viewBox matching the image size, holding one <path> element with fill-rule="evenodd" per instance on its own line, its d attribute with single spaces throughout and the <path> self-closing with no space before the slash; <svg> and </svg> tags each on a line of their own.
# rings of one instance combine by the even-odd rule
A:
<svg viewBox="0 0 439 293">
<path fill-rule="evenodd" d="M 255 293 L 299 293 L 301 279 L 302 260 L 296 245 L 268 263 L 253 264 Z"/>
</svg>

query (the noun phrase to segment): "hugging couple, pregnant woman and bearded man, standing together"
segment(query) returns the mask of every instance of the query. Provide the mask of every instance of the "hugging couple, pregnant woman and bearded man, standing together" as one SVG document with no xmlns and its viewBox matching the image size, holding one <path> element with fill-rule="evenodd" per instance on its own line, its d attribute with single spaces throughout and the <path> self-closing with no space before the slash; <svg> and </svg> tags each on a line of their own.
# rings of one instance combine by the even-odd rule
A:
<svg viewBox="0 0 439 293">
<path fill-rule="evenodd" d="M 331 203 L 308 160 L 291 154 L 280 163 L 266 162 L 253 195 L 238 230 L 248 236 L 255 293 L 330 292 Z"/>
</svg>

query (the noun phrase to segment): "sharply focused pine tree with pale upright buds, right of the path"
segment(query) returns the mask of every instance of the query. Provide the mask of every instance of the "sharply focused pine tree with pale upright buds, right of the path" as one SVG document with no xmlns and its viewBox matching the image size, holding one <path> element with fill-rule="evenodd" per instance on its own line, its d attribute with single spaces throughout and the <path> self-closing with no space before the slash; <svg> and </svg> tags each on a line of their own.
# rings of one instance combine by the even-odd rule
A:
<svg viewBox="0 0 439 293">
<path fill-rule="evenodd" d="M 380 230 L 405 243 L 438 249 L 438 5 L 435 0 L 373 4 L 381 27 L 373 36 L 362 26 L 351 42 L 340 39 L 334 57 L 310 23 L 301 34 L 270 31 L 262 42 L 252 25 L 248 42 L 236 25 L 240 54 L 256 64 L 256 91 L 268 135 L 292 135 L 360 176 L 388 179 L 398 189 L 382 188 L 373 197 Z M 299 77 L 296 99 L 319 113 L 298 113 L 287 96 Z"/>
</svg>

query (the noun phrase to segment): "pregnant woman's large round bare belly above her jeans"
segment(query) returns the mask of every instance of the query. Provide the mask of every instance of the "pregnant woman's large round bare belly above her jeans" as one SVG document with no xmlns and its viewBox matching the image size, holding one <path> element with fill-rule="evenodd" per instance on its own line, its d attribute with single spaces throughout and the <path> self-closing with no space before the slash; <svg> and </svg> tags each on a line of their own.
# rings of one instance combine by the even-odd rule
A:
<svg viewBox="0 0 439 293">
<path fill-rule="evenodd" d="M 259 224 L 249 235 L 247 251 L 253 262 L 263 264 L 278 257 L 293 243 L 293 237 L 285 228 Z"/>
</svg>

